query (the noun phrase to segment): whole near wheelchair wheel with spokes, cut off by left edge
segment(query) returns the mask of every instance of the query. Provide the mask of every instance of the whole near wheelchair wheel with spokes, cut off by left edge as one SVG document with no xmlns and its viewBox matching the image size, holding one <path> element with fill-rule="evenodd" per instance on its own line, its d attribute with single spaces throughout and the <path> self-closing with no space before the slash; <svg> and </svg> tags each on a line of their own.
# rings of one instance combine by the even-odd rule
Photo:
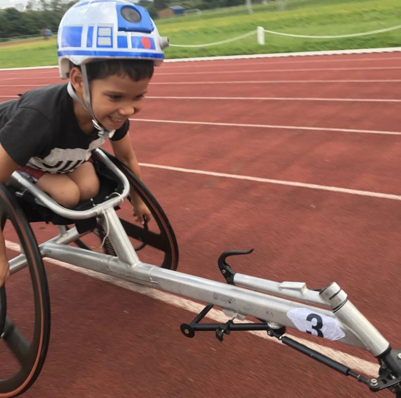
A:
<svg viewBox="0 0 401 398">
<path fill-rule="evenodd" d="M 6 282 L 7 307 L 6 289 L 0 293 L 0 318 L 4 318 L 0 338 L 0 398 L 9 398 L 25 392 L 45 362 L 50 336 L 50 300 L 35 236 L 17 201 L 3 185 L 0 185 L 0 226 L 7 238 L 9 262 L 19 251 L 28 262 L 28 267 L 18 271 L 11 267 L 11 276 Z"/>
</svg>

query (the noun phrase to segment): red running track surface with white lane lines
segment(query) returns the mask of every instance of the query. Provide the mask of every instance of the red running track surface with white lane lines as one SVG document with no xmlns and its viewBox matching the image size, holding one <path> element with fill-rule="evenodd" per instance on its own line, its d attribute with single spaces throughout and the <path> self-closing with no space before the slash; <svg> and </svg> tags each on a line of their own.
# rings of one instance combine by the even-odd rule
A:
<svg viewBox="0 0 401 398">
<path fill-rule="evenodd" d="M 400 65 L 399 53 L 166 63 L 148 95 L 400 100 Z M 286 71 L 272 72 L 278 69 Z M 2 71 L 0 100 L 58 82 L 56 69 Z M 399 115 L 399 102 L 148 98 L 137 118 L 164 122 L 131 123 L 141 162 L 228 174 L 142 167 L 176 233 L 179 270 L 221 280 L 221 252 L 254 247 L 252 255 L 233 260 L 236 270 L 311 288 L 336 281 L 399 347 L 401 197 L 341 190 L 401 194 L 400 135 L 367 132 L 401 133 Z M 43 241 L 54 229 L 37 226 L 36 233 Z M 194 313 L 168 295 L 150 297 L 146 289 L 133 292 L 50 263 L 47 273 L 51 344 L 27 397 L 369 395 L 352 379 L 259 336 L 186 339 L 179 325 Z M 373 362 L 360 350 L 309 339 Z M 359 371 L 369 368 L 357 364 Z"/>
</svg>

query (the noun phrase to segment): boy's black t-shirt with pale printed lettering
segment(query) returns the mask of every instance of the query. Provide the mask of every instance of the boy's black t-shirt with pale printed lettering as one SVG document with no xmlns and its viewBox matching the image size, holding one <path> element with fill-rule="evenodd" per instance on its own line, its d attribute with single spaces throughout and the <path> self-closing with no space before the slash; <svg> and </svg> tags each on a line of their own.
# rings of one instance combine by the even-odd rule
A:
<svg viewBox="0 0 401 398">
<path fill-rule="evenodd" d="M 110 137 L 125 136 L 129 121 Z M 67 84 L 41 87 L 0 104 L 0 144 L 20 165 L 66 173 L 88 160 L 105 139 L 78 125 Z"/>
</svg>

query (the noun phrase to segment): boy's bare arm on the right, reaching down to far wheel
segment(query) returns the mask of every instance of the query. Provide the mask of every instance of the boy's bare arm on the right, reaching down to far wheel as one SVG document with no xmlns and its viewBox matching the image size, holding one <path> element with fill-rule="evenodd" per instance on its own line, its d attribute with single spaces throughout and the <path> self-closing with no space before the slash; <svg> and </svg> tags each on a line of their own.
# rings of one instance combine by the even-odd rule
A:
<svg viewBox="0 0 401 398">
<path fill-rule="evenodd" d="M 126 134 L 118 141 L 110 140 L 110 142 L 115 157 L 120 160 L 120 162 L 122 162 L 125 166 L 127 166 L 138 179 L 141 180 L 141 171 L 139 168 L 138 160 L 136 159 L 134 149 L 132 148 L 129 134 Z M 137 221 L 143 224 L 144 216 L 146 220 L 149 221 L 151 218 L 151 214 L 146 205 L 142 202 L 141 198 L 134 190 L 131 190 L 129 194 L 131 196 L 132 206 L 134 207 L 134 213 L 137 217 Z"/>
</svg>

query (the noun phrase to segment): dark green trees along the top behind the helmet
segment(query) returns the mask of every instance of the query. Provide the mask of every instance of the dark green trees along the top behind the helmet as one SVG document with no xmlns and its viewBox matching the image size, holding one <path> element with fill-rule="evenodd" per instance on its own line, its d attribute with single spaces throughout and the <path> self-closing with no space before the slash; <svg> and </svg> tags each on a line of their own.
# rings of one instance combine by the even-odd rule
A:
<svg viewBox="0 0 401 398">
<path fill-rule="evenodd" d="M 40 35 L 43 29 L 57 32 L 64 13 L 75 3 L 62 0 L 30 0 L 25 11 L 15 8 L 0 9 L 0 41 L 11 37 Z M 34 10 L 40 5 L 40 11 Z M 186 10 L 207 10 L 220 7 L 232 7 L 244 4 L 244 0 L 140 0 L 139 5 L 145 7 L 153 19 L 157 19 L 157 11 L 169 6 L 182 6 Z"/>
</svg>

